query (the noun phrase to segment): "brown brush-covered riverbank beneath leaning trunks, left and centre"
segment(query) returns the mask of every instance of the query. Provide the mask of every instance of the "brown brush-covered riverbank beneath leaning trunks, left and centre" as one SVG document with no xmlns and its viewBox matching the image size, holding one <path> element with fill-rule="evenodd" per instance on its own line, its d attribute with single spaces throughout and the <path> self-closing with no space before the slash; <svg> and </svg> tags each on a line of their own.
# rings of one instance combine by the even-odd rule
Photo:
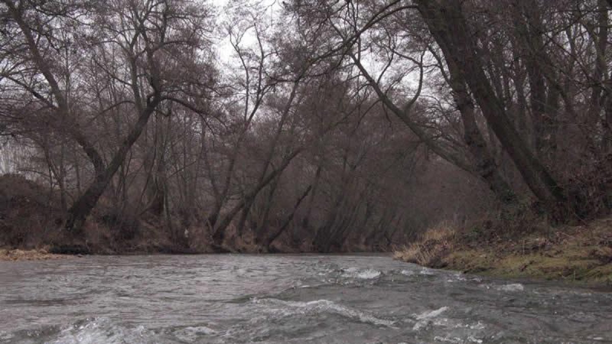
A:
<svg viewBox="0 0 612 344">
<path fill-rule="evenodd" d="M 17 174 L 0 175 L 0 249 L 47 249 L 49 253 L 67 255 L 315 253 L 321 250 L 347 253 L 389 252 L 391 244 L 389 238 L 366 236 L 362 231 L 343 234 L 341 244 L 323 245 L 315 242 L 318 227 L 312 224 L 302 223 L 289 231 L 278 224 L 260 228 L 250 222 L 240 225 L 237 219 L 225 227 L 224 240 L 219 244 L 213 239 L 205 209 L 190 214 L 159 214 L 143 206 L 118 206 L 108 195 L 100 198 L 78 233 L 69 233 L 62 225 L 67 220 L 66 206 L 62 207 L 58 190 L 49 190 Z M 274 240 L 267 242 L 272 234 Z M 381 240 L 384 245 L 380 244 Z"/>
</svg>

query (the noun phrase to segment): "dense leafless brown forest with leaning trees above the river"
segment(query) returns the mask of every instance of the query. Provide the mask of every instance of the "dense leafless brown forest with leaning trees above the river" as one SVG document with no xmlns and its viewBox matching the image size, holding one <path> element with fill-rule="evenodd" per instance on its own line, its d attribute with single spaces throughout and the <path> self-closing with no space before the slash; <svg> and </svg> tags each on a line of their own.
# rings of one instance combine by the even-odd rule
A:
<svg viewBox="0 0 612 344">
<path fill-rule="evenodd" d="M 390 251 L 602 219 L 610 9 L 2 0 L 0 245 Z"/>
</svg>

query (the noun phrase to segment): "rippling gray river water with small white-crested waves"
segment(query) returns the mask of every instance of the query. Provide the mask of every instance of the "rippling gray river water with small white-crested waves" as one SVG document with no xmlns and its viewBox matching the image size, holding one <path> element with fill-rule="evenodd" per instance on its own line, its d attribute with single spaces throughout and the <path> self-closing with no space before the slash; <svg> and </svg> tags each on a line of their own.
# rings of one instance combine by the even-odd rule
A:
<svg viewBox="0 0 612 344">
<path fill-rule="evenodd" d="M 388 256 L 0 263 L 0 343 L 612 343 L 612 295 Z"/>
</svg>

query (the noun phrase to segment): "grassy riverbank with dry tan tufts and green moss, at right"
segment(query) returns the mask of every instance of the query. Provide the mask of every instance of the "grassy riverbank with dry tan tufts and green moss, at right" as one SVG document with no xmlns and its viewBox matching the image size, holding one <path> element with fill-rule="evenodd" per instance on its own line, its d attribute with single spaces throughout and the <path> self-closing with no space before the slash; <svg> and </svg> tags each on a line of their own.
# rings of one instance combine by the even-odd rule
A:
<svg viewBox="0 0 612 344">
<path fill-rule="evenodd" d="M 580 226 L 539 222 L 523 230 L 502 229 L 490 221 L 468 228 L 438 226 L 396 250 L 394 258 L 493 277 L 612 286 L 612 217 Z"/>
</svg>

